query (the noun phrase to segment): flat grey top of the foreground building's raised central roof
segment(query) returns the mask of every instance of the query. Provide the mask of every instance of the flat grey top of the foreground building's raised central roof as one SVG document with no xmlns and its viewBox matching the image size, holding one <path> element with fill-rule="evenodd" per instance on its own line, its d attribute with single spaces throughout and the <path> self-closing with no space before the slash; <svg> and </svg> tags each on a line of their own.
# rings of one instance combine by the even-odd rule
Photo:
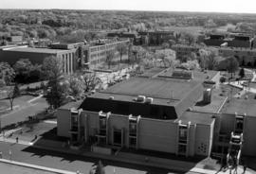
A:
<svg viewBox="0 0 256 174">
<path fill-rule="evenodd" d="M 125 96 L 147 96 L 161 99 L 181 100 L 199 83 L 190 80 L 163 78 L 131 78 L 114 85 L 102 93 Z"/>
</svg>

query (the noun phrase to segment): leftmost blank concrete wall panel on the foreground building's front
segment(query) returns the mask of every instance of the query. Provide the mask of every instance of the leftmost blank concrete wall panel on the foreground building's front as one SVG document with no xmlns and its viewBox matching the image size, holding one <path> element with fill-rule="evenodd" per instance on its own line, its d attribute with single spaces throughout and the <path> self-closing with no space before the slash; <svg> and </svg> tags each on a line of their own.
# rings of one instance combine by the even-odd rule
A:
<svg viewBox="0 0 256 174">
<path fill-rule="evenodd" d="M 57 111 L 57 134 L 58 136 L 70 137 L 71 112 L 59 109 Z"/>
</svg>

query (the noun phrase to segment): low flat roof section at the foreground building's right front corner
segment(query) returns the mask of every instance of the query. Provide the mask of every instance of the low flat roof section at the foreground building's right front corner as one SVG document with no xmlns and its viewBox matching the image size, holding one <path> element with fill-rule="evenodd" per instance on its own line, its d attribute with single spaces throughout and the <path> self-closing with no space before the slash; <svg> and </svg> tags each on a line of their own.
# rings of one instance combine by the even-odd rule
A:
<svg viewBox="0 0 256 174">
<path fill-rule="evenodd" d="M 212 117 L 214 113 L 197 113 L 197 112 L 185 112 L 178 119 L 181 120 L 181 123 L 188 124 L 203 124 L 203 125 L 211 125 L 214 121 Z"/>
</svg>

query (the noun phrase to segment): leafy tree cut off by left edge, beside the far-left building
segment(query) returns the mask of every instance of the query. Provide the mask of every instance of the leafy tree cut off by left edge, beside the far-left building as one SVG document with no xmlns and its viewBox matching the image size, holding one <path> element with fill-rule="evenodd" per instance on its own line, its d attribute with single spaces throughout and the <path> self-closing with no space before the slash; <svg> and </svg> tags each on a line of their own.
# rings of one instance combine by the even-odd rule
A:
<svg viewBox="0 0 256 174">
<path fill-rule="evenodd" d="M 4 84 L 8 84 L 13 80 L 15 77 L 14 70 L 10 67 L 8 62 L 0 62 L 0 78 Z"/>
</svg>

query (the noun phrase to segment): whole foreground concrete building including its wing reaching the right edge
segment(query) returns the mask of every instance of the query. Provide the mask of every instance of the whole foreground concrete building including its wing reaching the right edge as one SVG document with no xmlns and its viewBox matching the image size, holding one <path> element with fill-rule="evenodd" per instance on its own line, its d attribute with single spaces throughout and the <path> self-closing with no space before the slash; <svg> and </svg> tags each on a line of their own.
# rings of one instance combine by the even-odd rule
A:
<svg viewBox="0 0 256 174">
<path fill-rule="evenodd" d="M 133 148 L 184 156 L 228 154 L 236 163 L 242 154 L 256 156 L 256 102 L 220 96 L 219 72 L 147 75 L 61 107 L 58 135 L 104 153 Z"/>
</svg>

